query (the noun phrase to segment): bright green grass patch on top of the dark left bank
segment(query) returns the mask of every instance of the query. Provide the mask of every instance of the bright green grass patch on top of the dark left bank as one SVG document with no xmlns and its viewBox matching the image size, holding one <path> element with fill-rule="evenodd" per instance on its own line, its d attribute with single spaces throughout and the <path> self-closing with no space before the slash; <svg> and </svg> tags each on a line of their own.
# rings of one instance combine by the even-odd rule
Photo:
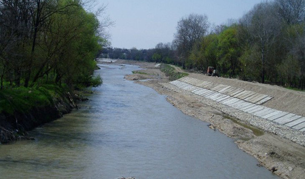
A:
<svg viewBox="0 0 305 179">
<path fill-rule="evenodd" d="M 0 113 L 27 112 L 34 107 L 53 105 L 53 99 L 63 96 L 55 85 L 15 87 L 0 90 Z"/>
</svg>

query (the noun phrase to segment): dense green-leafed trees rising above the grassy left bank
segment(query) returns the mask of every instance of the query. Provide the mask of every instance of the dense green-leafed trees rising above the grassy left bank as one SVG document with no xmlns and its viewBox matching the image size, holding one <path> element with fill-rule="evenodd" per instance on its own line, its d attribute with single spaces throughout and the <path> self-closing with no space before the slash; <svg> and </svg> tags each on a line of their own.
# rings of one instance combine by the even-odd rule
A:
<svg viewBox="0 0 305 179">
<path fill-rule="evenodd" d="M 80 0 L 1 0 L 1 88 L 90 82 L 105 39 L 97 14 L 83 6 Z"/>
</svg>

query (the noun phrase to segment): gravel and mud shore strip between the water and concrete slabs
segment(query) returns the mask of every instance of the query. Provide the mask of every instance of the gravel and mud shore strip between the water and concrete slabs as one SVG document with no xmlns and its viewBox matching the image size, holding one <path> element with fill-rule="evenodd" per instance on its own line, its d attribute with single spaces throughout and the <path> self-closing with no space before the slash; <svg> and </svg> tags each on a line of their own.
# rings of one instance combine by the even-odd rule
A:
<svg viewBox="0 0 305 179">
<path fill-rule="evenodd" d="M 143 73 L 134 73 L 125 78 L 152 87 L 159 94 L 167 96 L 167 101 L 185 114 L 209 122 L 215 130 L 235 139 L 236 145 L 241 150 L 257 159 L 257 166 L 265 166 L 282 178 L 305 177 L 304 133 L 179 89 L 168 83 L 168 77 L 155 68 L 154 63 L 122 60 L 116 63 L 139 65 L 145 68 L 141 70 Z M 200 76 L 199 74 L 193 76 L 196 75 Z M 150 80 L 143 81 L 143 79 Z M 258 86 L 262 88 L 262 84 Z"/>
</svg>

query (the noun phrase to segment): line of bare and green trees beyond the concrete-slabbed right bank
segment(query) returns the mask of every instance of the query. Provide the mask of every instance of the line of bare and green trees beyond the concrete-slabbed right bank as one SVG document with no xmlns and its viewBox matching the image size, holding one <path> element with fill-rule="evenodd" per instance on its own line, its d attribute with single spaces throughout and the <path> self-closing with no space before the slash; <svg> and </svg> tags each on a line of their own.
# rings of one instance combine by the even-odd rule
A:
<svg viewBox="0 0 305 179">
<path fill-rule="evenodd" d="M 305 1 L 275 0 L 255 5 L 239 20 L 211 27 L 205 15 L 182 18 L 172 43 L 154 49 L 107 48 L 101 56 L 162 62 L 222 76 L 304 89 Z"/>
</svg>

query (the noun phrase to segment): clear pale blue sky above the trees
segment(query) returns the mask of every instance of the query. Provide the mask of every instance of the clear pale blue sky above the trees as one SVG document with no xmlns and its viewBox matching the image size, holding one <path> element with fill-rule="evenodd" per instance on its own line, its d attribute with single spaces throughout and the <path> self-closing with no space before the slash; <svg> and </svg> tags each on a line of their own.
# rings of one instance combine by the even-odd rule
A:
<svg viewBox="0 0 305 179">
<path fill-rule="evenodd" d="M 152 49 L 159 42 L 171 42 L 178 21 L 188 15 L 207 15 L 211 24 L 239 19 L 263 0 L 98 0 L 107 5 L 114 21 L 108 29 L 114 48 Z"/>
</svg>

